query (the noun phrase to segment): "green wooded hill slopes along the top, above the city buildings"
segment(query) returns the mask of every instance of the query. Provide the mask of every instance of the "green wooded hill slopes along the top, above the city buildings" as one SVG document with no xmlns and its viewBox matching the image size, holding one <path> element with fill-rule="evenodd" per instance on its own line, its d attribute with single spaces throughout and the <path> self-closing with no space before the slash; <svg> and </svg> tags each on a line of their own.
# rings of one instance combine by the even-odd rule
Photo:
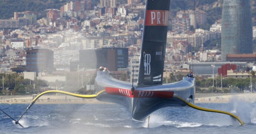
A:
<svg viewBox="0 0 256 134">
<path fill-rule="evenodd" d="M 14 12 L 22 11 L 38 11 L 42 12 L 46 9 L 59 9 L 63 4 L 76 0 L 0 0 L 0 19 L 9 19 Z M 135 0 L 141 3 L 143 0 Z M 100 0 L 93 0 L 92 6 L 99 4 Z M 127 0 L 117 0 L 119 4 L 127 3 Z M 210 29 L 210 25 L 221 19 L 223 0 L 200 0 L 196 1 L 196 8 L 208 14 L 207 23 L 200 26 L 202 29 Z M 175 16 L 178 11 L 184 9 L 183 1 L 171 0 L 171 14 Z M 253 24 L 256 26 L 256 1 L 251 0 Z M 193 0 L 185 0 L 185 8 L 193 10 Z"/>
</svg>

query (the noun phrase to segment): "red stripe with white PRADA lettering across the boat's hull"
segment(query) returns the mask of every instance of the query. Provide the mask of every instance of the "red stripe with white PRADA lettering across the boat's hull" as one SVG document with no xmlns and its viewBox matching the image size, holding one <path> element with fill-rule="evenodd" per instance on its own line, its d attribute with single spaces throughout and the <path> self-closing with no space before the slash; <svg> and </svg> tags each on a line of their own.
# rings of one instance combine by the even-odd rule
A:
<svg viewBox="0 0 256 134">
<path fill-rule="evenodd" d="M 112 88 L 105 87 L 107 94 L 117 95 L 117 96 L 125 96 L 130 98 L 172 98 L 174 92 L 173 91 L 138 91 L 135 90 L 132 95 L 131 90 L 129 89 L 120 89 L 120 88 Z"/>
</svg>

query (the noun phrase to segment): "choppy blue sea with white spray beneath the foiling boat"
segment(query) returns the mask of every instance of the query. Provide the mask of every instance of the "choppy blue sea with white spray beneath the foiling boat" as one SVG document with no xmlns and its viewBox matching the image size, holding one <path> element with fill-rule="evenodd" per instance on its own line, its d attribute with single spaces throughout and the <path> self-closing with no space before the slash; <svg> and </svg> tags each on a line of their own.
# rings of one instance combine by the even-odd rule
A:
<svg viewBox="0 0 256 134">
<path fill-rule="evenodd" d="M 20 128 L 0 113 L 1 134 L 10 133 L 255 133 L 256 103 L 197 104 L 201 107 L 226 110 L 239 115 L 244 126 L 229 115 L 208 113 L 190 107 L 163 108 L 141 123 L 118 104 L 35 104 L 20 121 Z M 19 118 L 27 104 L 0 104 L 0 108 Z"/>
</svg>

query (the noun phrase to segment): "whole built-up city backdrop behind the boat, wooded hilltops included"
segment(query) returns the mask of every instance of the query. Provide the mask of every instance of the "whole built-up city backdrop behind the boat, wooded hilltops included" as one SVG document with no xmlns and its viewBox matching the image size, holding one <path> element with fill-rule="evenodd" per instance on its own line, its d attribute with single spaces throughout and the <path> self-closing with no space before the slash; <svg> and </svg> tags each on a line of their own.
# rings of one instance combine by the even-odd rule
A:
<svg viewBox="0 0 256 134">
<path fill-rule="evenodd" d="M 167 81 L 186 76 L 192 59 L 195 76 L 202 79 L 248 79 L 249 71 L 256 71 L 256 54 L 234 53 L 226 55 L 227 61 L 221 59 L 222 2 L 197 1 L 194 13 L 193 1 L 185 0 L 184 14 L 183 1 L 171 0 L 164 58 Z M 253 0 L 251 7 L 250 36 L 256 46 Z M 132 80 L 134 67 L 136 81 L 144 10 L 144 0 L 0 0 L 0 77 L 17 72 L 32 83 L 47 80 L 53 87 L 80 89 L 93 84 L 96 70 L 104 66 L 114 78 L 126 81 Z M 13 81 L 4 78 L 9 85 Z"/>
</svg>

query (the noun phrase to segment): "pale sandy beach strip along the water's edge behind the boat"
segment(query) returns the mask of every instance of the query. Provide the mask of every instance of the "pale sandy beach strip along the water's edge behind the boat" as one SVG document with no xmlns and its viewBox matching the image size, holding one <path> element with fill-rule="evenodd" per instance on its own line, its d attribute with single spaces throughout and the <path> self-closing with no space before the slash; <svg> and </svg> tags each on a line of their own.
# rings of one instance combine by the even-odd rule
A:
<svg viewBox="0 0 256 134">
<path fill-rule="evenodd" d="M 30 104 L 32 96 L 0 96 L 0 104 Z M 256 93 L 240 94 L 196 94 L 195 103 L 228 103 L 230 100 L 255 102 Z M 40 97 L 36 104 L 111 104 L 96 99 L 82 99 L 66 95 L 46 95 Z"/>
</svg>

